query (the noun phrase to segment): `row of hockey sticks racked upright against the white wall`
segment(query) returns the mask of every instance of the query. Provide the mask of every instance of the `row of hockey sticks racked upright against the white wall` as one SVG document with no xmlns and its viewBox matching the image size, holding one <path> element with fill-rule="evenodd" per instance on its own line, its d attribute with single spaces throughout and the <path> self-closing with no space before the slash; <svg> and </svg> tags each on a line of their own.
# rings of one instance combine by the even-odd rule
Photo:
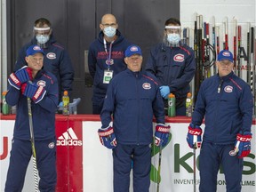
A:
<svg viewBox="0 0 256 192">
<path fill-rule="evenodd" d="M 199 19 L 198 19 L 199 18 Z M 191 47 L 194 47 L 194 50 L 202 50 L 202 57 L 200 57 L 198 60 L 199 65 L 201 63 L 201 59 L 203 62 L 203 79 L 207 78 L 210 76 L 212 76 L 213 74 L 216 74 L 216 68 L 215 65 L 209 65 L 209 58 L 211 58 L 212 60 L 214 60 L 214 54 L 213 52 L 209 52 L 209 50 L 211 51 L 211 48 L 214 50 L 214 52 L 216 52 L 216 54 L 218 54 L 220 52 L 220 49 L 226 49 L 229 50 L 229 46 L 228 46 L 228 39 L 231 40 L 231 44 L 233 43 L 233 50 L 230 50 L 231 52 L 233 52 L 234 54 L 234 64 L 236 66 L 235 71 L 236 71 L 236 75 L 242 77 L 241 71 L 247 71 L 247 73 L 244 75 L 246 76 L 246 78 L 244 77 L 244 81 L 247 81 L 248 84 L 252 84 L 252 68 L 253 68 L 253 52 L 254 52 L 254 46 L 253 46 L 253 39 L 255 37 L 255 29 L 253 27 L 251 27 L 251 23 L 248 22 L 248 28 L 244 29 L 244 33 L 246 30 L 246 38 L 243 39 L 244 44 L 246 44 L 246 47 L 243 46 L 242 44 L 242 26 L 238 25 L 237 26 L 237 20 L 233 19 L 230 23 L 233 27 L 233 34 L 228 35 L 228 18 L 225 17 L 225 19 L 223 20 L 223 25 L 222 28 L 220 28 L 220 26 L 215 26 L 215 18 L 212 17 L 212 24 L 211 24 L 211 34 L 212 36 L 210 36 L 209 33 L 209 26 L 210 24 L 207 22 L 203 22 L 203 16 L 202 15 L 196 15 L 196 24 L 195 24 L 195 29 L 191 29 L 191 28 L 183 28 L 183 32 L 182 32 L 182 40 L 183 43 L 190 45 Z M 198 25 L 199 23 L 199 25 Z M 221 41 L 221 37 L 220 37 L 220 29 L 222 32 L 222 42 Z M 198 31 L 199 30 L 199 31 Z M 202 30 L 202 32 L 200 32 L 200 30 Z M 198 34 L 199 32 L 199 34 Z M 193 39 L 194 38 L 198 38 L 197 36 L 200 36 L 200 33 L 203 33 L 204 36 L 202 36 L 202 43 L 198 44 L 200 42 L 198 42 L 198 39 Z M 198 34 L 198 35 L 197 35 Z M 232 36 L 233 35 L 233 36 Z M 229 37 L 228 37 L 229 36 Z M 191 39 L 193 39 L 193 43 L 191 44 Z M 211 40 L 211 42 L 210 42 Z M 199 40 L 201 41 L 201 40 Z M 233 41 L 233 42 L 232 42 Z M 197 43 L 197 44 L 196 44 Z M 200 45 L 203 45 L 201 47 L 199 47 Z M 206 46 L 208 45 L 208 47 Z M 196 56 L 199 56 L 200 52 L 195 52 Z M 211 61 L 212 61 L 211 60 Z M 196 63 L 198 63 L 196 62 Z M 242 63 L 246 64 L 242 66 Z M 213 66 L 213 73 L 211 71 L 211 73 L 206 72 L 208 70 L 208 68 L 210 68 Z M 202 68 L 202 67 L 200 67 Z M 252 85 L 251 85 L 252 88 Z"/>
</svg>

